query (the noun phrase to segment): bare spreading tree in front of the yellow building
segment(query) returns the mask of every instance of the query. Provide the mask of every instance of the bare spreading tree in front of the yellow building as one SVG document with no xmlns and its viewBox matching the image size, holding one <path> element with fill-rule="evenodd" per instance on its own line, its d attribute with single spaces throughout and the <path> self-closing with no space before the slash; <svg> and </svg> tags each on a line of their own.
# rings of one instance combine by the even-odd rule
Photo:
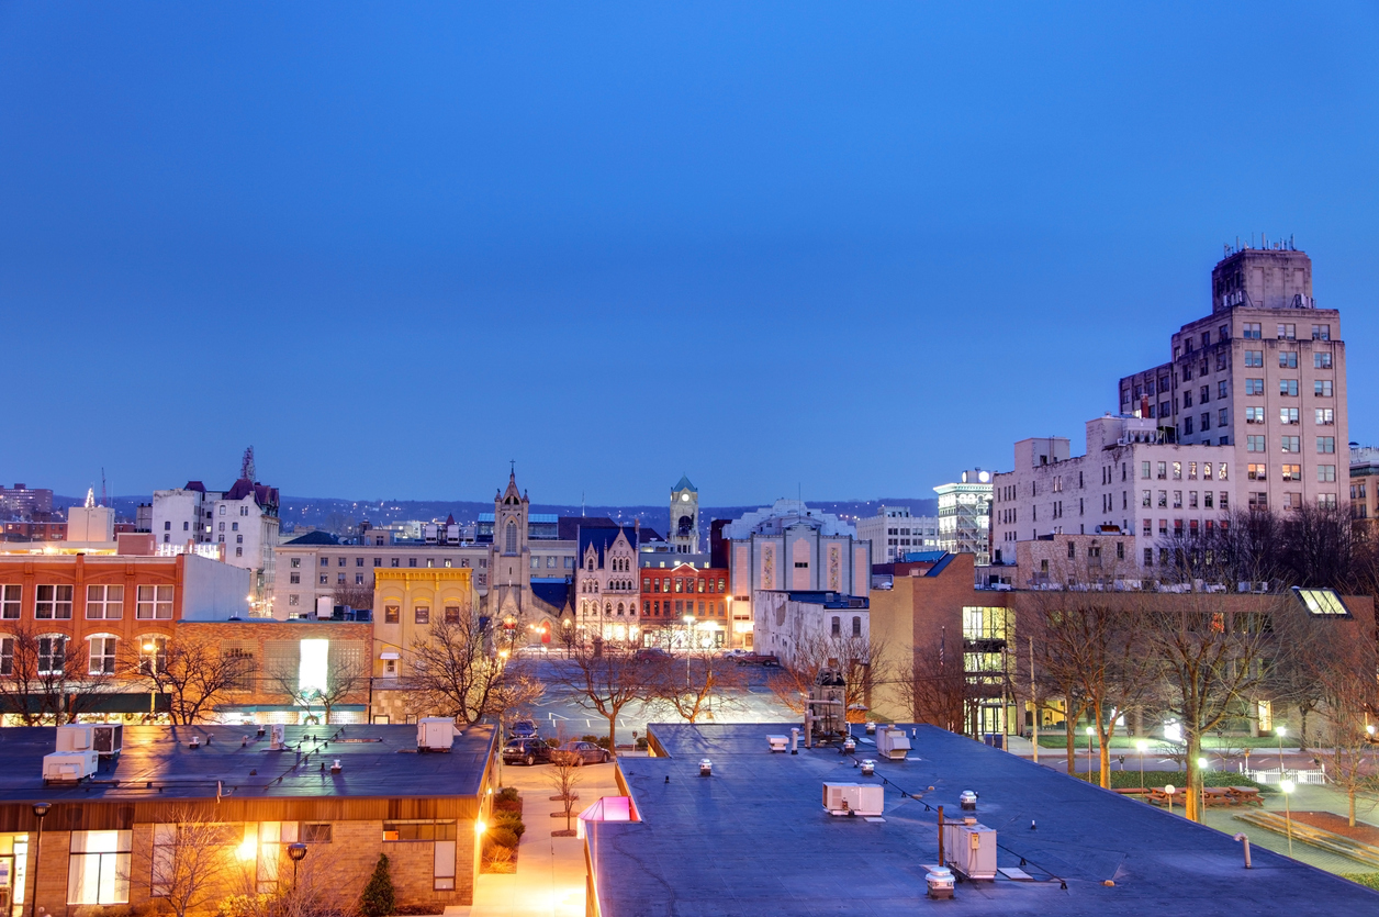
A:
<svg viewBox="0 0 1379 917">
<path fill-rule="evenodd" d="M 412 643 L 407 685 L 416 710 L 469 724 L 541 698 L 545 687 L 527 665 L 488 652 L 487 636 L 476 615 L 461 614 L 433 623 L 429 634 Z"/>
</svg>

